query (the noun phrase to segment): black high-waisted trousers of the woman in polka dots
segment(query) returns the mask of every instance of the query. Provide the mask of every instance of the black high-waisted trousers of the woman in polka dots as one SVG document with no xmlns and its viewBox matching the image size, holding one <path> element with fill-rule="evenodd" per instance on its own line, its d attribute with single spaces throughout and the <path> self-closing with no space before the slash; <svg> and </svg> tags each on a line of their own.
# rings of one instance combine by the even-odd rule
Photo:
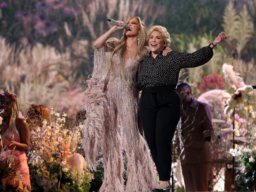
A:
<svg viewBox="0 0 256 192">
<path fill-rule="evenodd" d="M 181 116 L 182 102 L 176 86 L 142 89 L 140 119 L 160 181 L 169 181 L 172 138 Z"/>
</svg>

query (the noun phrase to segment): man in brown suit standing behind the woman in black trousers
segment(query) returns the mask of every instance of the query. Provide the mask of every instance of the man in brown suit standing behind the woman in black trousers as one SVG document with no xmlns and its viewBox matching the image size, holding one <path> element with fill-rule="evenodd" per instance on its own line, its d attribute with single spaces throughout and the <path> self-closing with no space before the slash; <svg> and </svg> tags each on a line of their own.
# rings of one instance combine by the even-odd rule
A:
<svg viewBox="0 0 256 192">
<path fill-rule="evenodd" d="M 181 135 L 184 147 L 180 153 L 181 168 L 186 191 L 208 191 L 209 171 L 212 162 L 209 142 L 213 135 L 211 110 L 206 103 L 191 96 L 187 83 L 179 83 L 183 110 Z"/>
</svg>

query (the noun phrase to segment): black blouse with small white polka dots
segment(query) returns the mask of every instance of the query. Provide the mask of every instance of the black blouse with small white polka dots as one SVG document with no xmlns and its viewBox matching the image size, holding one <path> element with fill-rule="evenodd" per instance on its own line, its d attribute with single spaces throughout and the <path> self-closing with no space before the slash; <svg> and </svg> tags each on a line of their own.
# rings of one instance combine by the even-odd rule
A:
<svg viewBox="0 0 256 192">
<path fill-rule="evenodd" d="M 207 63 L 213 57 L 210 45 L 202 47 L 193 53 L 171 51 L 163 56 L 163 51 L 154 59 L 151 52 L 140 65 L 138 88 L 177 85 L 179 71 L 182 68 L 198 67 Z"/>
</svg>

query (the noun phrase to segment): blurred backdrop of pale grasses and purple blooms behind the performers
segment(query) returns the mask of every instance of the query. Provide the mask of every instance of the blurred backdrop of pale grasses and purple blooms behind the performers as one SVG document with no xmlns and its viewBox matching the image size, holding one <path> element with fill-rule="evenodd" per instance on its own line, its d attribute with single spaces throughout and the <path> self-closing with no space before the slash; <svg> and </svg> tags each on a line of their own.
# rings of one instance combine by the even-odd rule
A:
<svg viewBox="0 0 256 192">
<path fill-rule="evenodd" d="M 255 0 L 0 0 L 0 91 L 17 93 L 22 111 L 31 103 L 78 110 L 93 69 L 93 41 L 111 27 L 107 18 L 132 15 L 148 29 L 165 26 L 170 47 L 180 52 L 208 45 L 221 31 L 231 35 L 207 65 L 182 71 L 195 96 L 209 89 L 199 89 L 202 78 L 222 75 L 225 62 L 245 84 L 256 84 Z"/>
</svg>

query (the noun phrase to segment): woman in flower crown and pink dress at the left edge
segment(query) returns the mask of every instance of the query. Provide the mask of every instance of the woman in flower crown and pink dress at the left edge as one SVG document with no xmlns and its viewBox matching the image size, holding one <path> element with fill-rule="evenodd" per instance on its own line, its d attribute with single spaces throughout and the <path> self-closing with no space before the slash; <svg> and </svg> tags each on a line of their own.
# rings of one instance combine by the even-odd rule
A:
<svg viewBox="0 0 256 192">
<path fill-rule="evenodd" d="M 26 154 L 30 144 L 30 132 L 28 124 L 24 119 L 18 118 L 19 105 L 18 97 L 15 93 L 9 92 L 7 89 L 0 94 L 0 109 L 4 109 L 2 141 L 4 150 L 13 150 L 15 159 L 15 171 L 19 174 L 26 174 L 24 184 L 30 190 L 30 177 Z"/>
</svg>

